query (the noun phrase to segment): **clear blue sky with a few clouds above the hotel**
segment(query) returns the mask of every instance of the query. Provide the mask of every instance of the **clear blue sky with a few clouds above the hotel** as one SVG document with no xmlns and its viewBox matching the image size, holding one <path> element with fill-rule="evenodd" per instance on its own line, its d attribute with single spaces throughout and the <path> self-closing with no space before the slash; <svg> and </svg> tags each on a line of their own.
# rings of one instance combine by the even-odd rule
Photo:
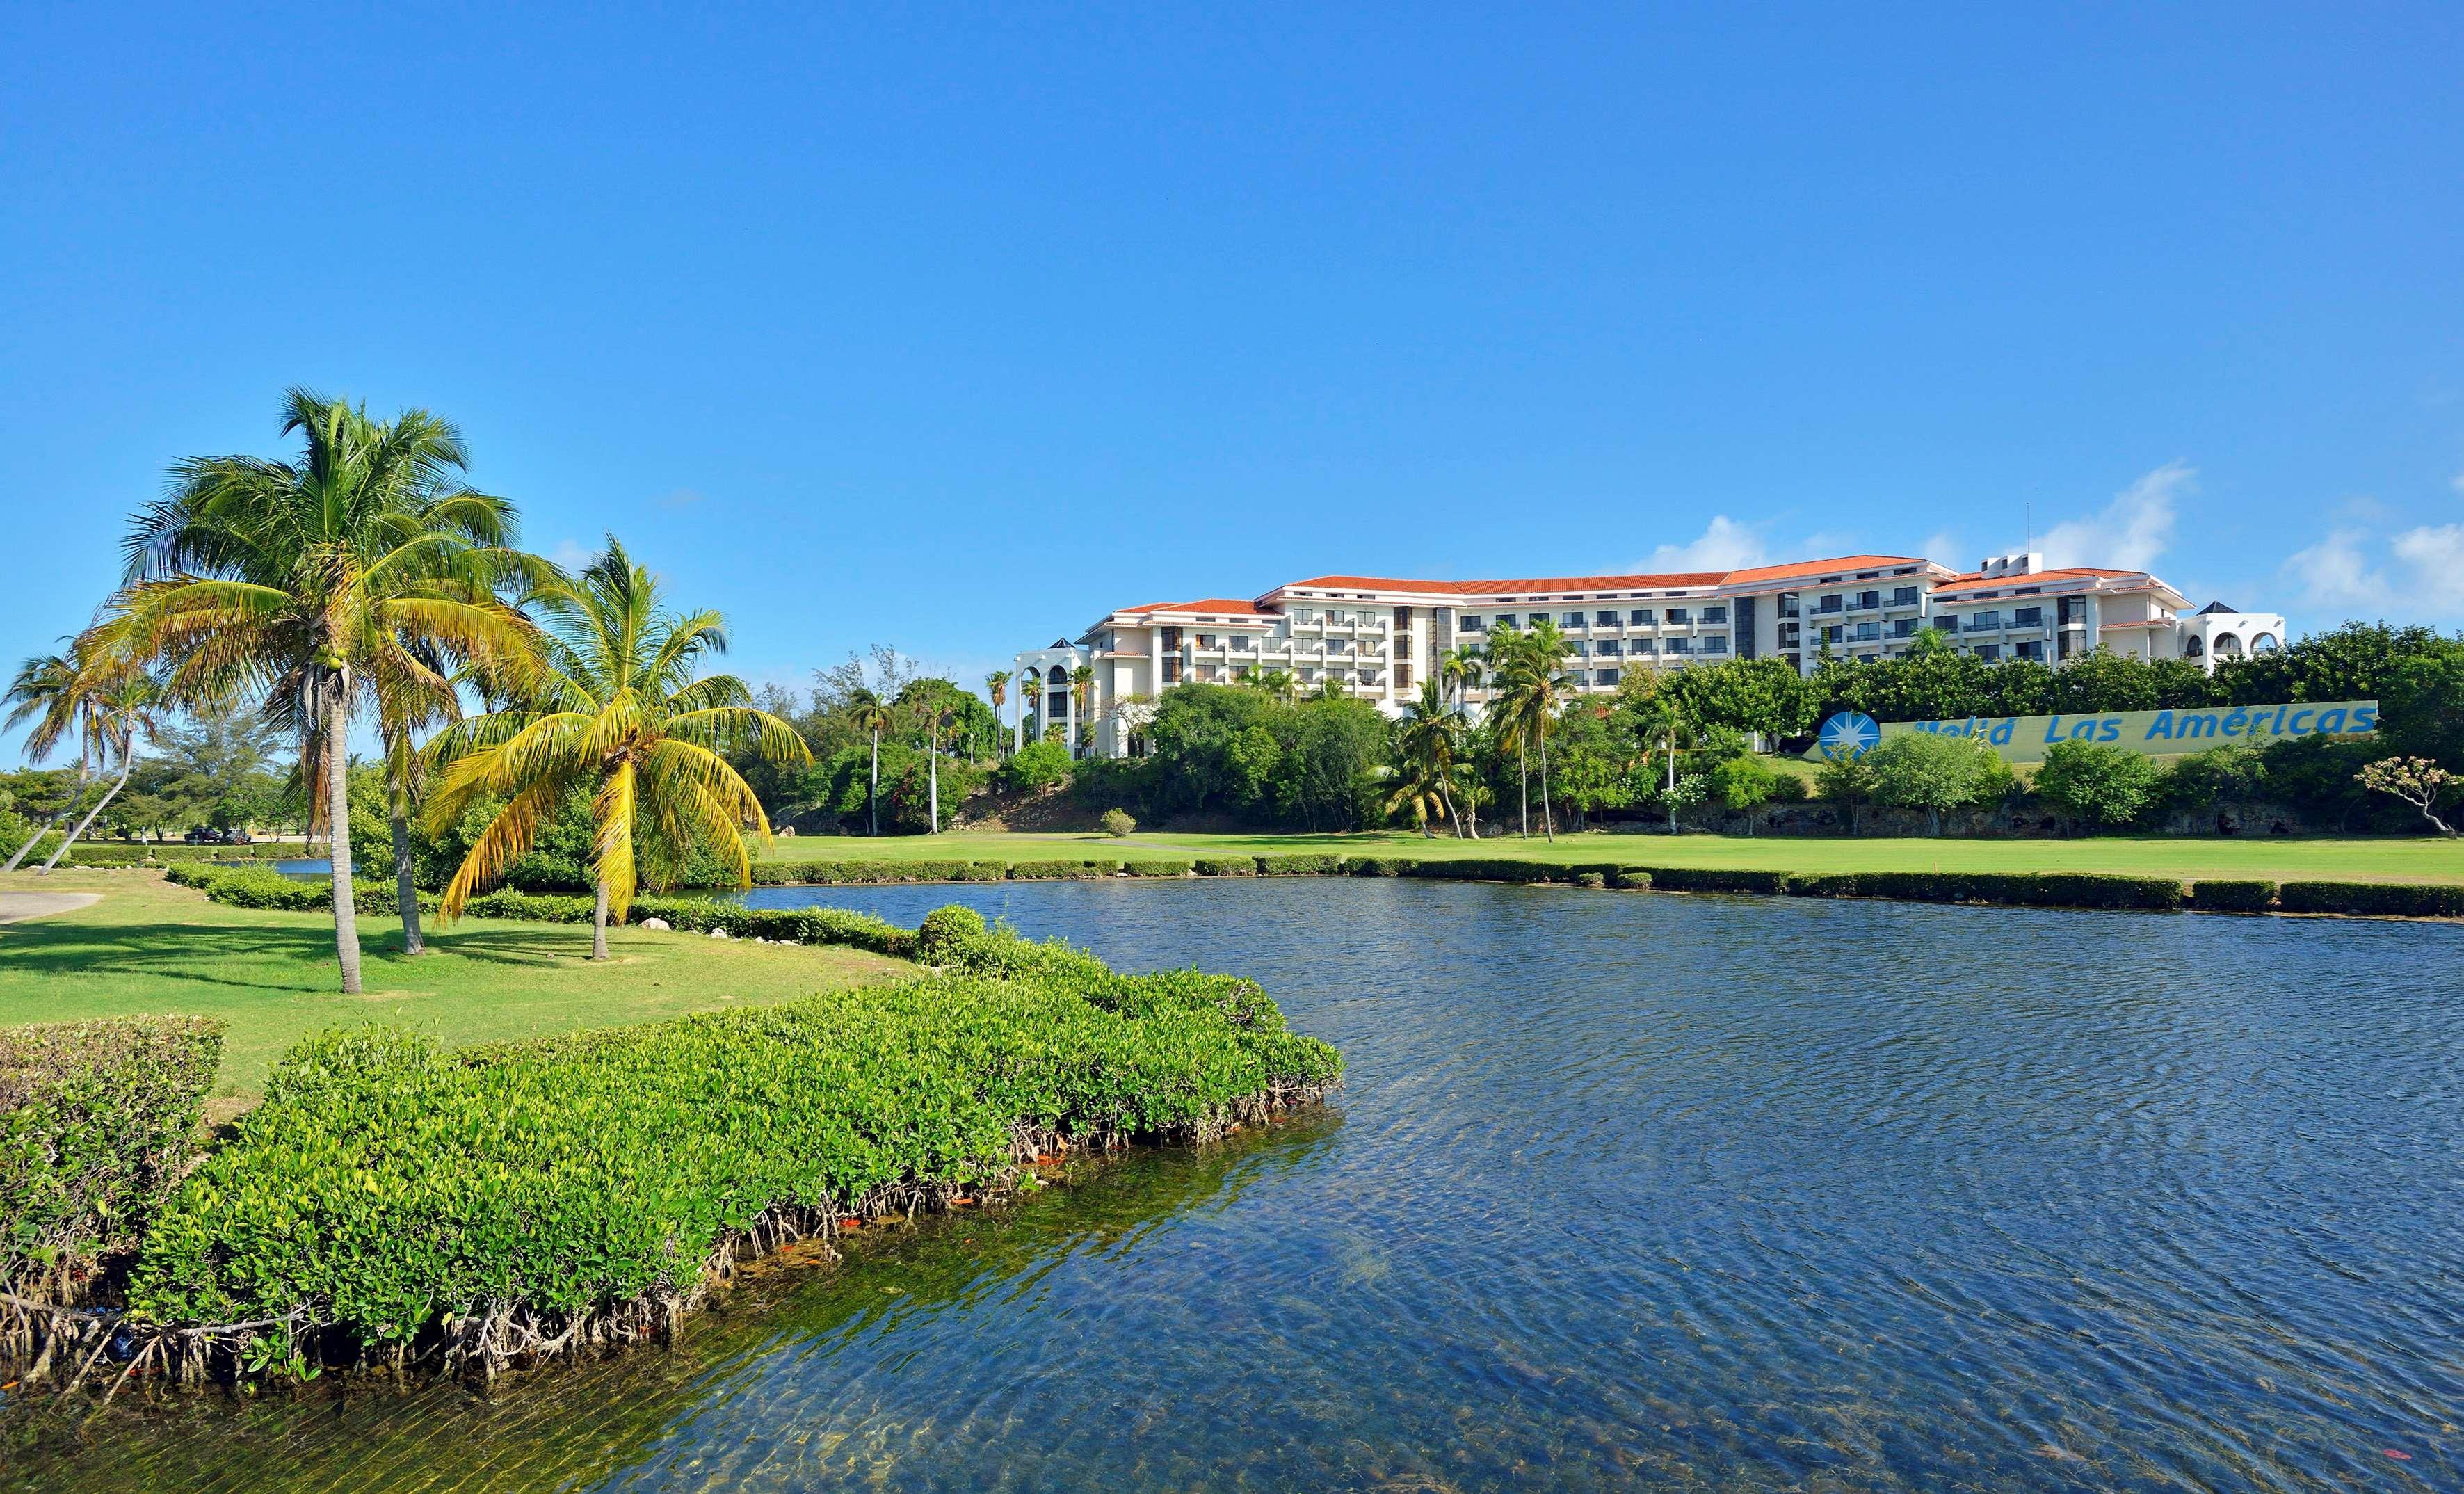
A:
<svg viewBox="0 0 2464 1494">
<path fill-rule="evenodd" d="M 2464 10 L 2139 10 L 10 7 L 0 656 L 291 382 L 784 683 L 2030 528 L 2464 621 Z"/>
</svg>

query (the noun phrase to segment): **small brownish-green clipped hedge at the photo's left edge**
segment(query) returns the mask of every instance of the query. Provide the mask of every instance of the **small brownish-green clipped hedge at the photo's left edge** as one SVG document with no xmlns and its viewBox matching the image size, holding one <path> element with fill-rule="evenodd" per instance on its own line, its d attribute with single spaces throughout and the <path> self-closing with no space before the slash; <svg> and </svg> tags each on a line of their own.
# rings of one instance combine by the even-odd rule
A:
<svg viewBox="0 0 2464 1494">
<path fill-rule="evenodd" d="M 222 1023 L 0 1028 L 0 1284 L 44 1302 L 133 1243 L 197 1154 Z"/>
</svg>

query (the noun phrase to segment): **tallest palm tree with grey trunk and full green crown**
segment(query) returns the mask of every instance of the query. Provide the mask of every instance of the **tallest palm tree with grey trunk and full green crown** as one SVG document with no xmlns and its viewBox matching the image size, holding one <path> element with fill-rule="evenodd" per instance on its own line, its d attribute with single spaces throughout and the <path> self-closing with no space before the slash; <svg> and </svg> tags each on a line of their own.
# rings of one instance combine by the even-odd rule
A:
<svg viewBox="0 0 2464 1494">
<path fill-rule="evenodd" d="M 444 685 L 419 648 L 517 671 L 537 631 L 498 597 L 537 577 L 515 552 L 513 505 L 461 483 L 461 434 L 424 409 L 375 422 L 306 390 L 283 397 L 301 461 L 197 456 L 145 505 L 123 545 L 128 589 L 106 636 L 160 661 L 172 695 L 261 695 L 301 740 L 310 804 L 333 846 L 333 942 L 360 991 L 350 890 L 347 737 L 357 710 L 402 680 Z"/>
</svg>

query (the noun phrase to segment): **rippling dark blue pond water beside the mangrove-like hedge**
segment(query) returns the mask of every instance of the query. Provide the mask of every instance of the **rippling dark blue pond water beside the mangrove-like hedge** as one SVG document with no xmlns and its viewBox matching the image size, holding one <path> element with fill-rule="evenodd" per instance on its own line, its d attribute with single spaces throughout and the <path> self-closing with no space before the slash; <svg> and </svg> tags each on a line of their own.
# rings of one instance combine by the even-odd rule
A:
<svg viewBox="0 0 2464 1494">
<path fill-rule="evenodd" d="M 1387 880 L 754 897 L 963 900 L 1249 971 L 1350 1082 L 867 1235 L 673 1351 L 111 1413 L 12 1482 L 2464 1484 L 2452 927 Z"/>
</svg>

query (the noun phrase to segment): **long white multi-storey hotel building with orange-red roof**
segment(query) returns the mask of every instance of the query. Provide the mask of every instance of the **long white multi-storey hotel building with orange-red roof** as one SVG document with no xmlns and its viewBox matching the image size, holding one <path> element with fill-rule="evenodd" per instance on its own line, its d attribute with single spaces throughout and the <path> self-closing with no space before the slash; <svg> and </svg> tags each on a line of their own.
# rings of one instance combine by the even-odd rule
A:
<svg viewBox="0 0 2464 1494">
<path fill-rule="evenodd" d="M 1786 658 L 1811 673 L 1838 658 L 1887 658 L 1939 634 L 1979 658 L 2065 663 L 2099 646 L 2126 658 L 2220 661 L 2284 643 L 2284 619 L 2188 599 L 2149 572 L 2048 569 L 2040 555 L 1996 555 L 1974 572 L 1912 555 L 1838 555 L 1727 572 L 1414 582 L 1311 577 L 1239 602 L 1148 602 L 1101 616 L 1074 641 L 1018 656 L 1018 740 L 1032 710 L 1042 735 L 1079 740 L 1079 668 L 1094 671 L 1094 752 L 1121 757 L 1141 703 L 1185 683 L 1286 671 L 1303 695 L 1328 683 L 1395 715 L 1439 658 L 1501 626 L 1547 616 L 1572 648 L 1577 690 L 1616 690 L 1629 671 L 1730 658 Z M 1466 690 L 1478 710 L 1483 690 Z"/>
</svg>

